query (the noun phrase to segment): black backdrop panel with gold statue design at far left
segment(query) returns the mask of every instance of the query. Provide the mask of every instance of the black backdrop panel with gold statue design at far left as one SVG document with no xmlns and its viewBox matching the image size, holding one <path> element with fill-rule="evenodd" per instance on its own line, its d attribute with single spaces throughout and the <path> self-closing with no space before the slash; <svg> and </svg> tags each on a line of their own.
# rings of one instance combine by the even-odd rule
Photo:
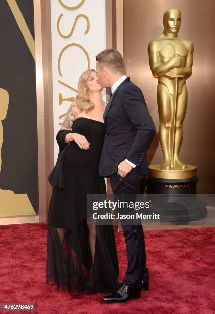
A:
<svg viewBox="0 0 215 314">
<path fill-rule="evenodd" d="M 1 0 L 0 15 L 0 218 L 36 215 L 33 0 Z"/>
</svg>

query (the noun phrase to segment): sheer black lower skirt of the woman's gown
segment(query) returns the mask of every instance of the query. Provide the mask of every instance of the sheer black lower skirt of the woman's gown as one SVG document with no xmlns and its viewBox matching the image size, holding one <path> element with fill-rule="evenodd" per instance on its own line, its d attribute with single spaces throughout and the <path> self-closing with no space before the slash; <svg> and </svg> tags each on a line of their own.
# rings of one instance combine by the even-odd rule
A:
<svg viewBox="0 0 215 314">
<path fill-rule="evenodd" d="M 118 262 L 111 225 L 72 229 L 48 224 L 47 284 L 72 295 L 113 292 L 118 287 Z"/>
</svg>

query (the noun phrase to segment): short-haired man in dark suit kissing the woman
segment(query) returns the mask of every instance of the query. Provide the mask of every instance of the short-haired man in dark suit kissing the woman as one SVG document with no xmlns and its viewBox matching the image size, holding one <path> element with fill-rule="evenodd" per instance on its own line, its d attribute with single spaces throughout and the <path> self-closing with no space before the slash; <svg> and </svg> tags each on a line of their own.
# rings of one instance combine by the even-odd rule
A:
<svg viewBox="0 0 215 314">
<path fill-rule="evenodd" d="M 114 194 L 139 194 L 143 176 L 149 174 L 146 152 L 155 126 L 146 108 L 142 91 L 124 75 L 119 51 L 106 49 L 96 56 L 96 69 L 102 87 L 111 87 L 104 111 L 105 140 L 99 173 L 110 176 Z M 104 302 L 125 302 L 148 290 L 145 243 L 142 225 L 123 225 L 128 267 L 118 290 L 103 297 Z"/>
</svg>

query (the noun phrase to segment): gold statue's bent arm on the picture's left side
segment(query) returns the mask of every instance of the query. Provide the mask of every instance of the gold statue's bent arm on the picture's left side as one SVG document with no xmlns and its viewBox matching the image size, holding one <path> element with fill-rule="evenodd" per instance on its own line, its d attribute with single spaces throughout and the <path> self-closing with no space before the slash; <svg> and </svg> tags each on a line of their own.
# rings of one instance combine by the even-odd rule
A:
<svg viewBox="0 0 215 314">
<path fill-rule="evenodd" d="M 160 63 L 159 50 L 157 43 L 148 44 L 149 65 L 155 78 L 164 76 L 175 68 L 180 68 L 182 64 L 181 57 L 173 56 L 167 62 Z"/>
</svg>

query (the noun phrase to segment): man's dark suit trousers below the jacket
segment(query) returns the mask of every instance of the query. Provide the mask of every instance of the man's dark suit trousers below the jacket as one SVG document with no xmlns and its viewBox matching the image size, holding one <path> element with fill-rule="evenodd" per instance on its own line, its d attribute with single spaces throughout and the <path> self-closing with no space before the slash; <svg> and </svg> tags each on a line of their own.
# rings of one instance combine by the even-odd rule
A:
<svg viewBox="0 0 215 314">
<path fill-rule="evenodd" d="M 110 176 L 113 194 L 140 194 L 143 174 L 135 167 L 121 178 L 117 173 Z M 123 234 L 125 237 L 128 267 L 126 269 L 124 283 L 132 288 L 141 289 L 142 280 L 148 281 L 148 269 L 145 267 L 145 241 L 142 225 L 125 225 L 122 224 Z"/>
</svg>

